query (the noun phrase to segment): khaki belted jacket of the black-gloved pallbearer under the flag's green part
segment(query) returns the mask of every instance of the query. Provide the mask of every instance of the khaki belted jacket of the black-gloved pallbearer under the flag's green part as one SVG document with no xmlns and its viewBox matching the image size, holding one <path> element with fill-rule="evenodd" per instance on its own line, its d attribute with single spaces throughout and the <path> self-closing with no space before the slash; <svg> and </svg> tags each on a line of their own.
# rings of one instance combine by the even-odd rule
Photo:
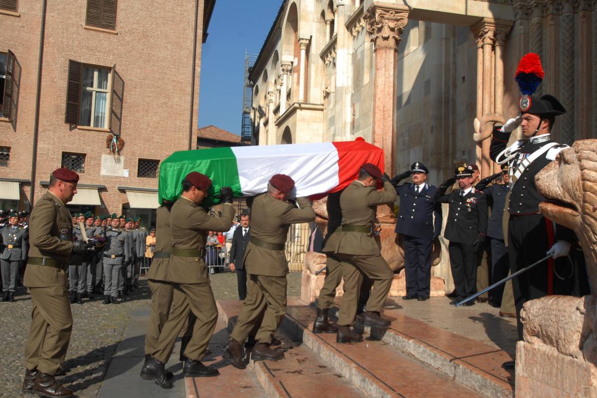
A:
<svg viewBox="0 0 597 398">
<path fill-rule="evenodd" d="M 204 208 L 181 196 L 170 211 L 172 248 L 197 251 L 205 248 L 208 231 L 229 230 L 234 213 L 233 206 L 224 203 L 221 217 L 212 217 Z M 205 259 L 202 256 L 170 255 L 168 280 L 175 283 L 209 283 Z"/>
</svg>

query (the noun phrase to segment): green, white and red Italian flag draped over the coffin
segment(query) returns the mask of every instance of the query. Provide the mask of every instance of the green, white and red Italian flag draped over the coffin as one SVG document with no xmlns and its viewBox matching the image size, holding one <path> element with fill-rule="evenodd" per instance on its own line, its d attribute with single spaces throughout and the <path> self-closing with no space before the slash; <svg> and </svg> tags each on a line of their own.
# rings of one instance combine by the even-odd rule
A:
<svg viewBox="0 0 597 398">
<path fill-rule="evenodd" d="M 267 191 L 274 174 L 293 178 L 291 196 L 320 196 L 344 189 L 358 175 L 363 163 L 383 172 L 383 150 L 365 142 L 342 141 L 313 144 L 241 146 L 174 152 L 159 166 L 159 203 L 174 202 L 182 192 L 184 176 L 198 171 L 211 178 L 210 197 L 202 205 L 218 202 L 220 187 L 230 186 L 235 197 Z"/>
</svg>

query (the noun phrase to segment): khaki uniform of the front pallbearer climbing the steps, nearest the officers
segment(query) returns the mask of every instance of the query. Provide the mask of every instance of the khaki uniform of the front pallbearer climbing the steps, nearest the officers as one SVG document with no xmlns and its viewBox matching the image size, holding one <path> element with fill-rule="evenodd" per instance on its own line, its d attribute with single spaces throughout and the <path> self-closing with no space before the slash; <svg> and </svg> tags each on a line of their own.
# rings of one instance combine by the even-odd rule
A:
<svg viewBox="0 0 597 398">
<path fill-rule="evenodd" d="M 373 292 L 365 307 L 367 311 L 381 311 L 392 286 L 393 272 L 381 257 L 375 237 L 365 232 L 347 231 L 351 227 L 373 228 L 377 205 L 398 200 L 391 183 L 384 183 L 383 188 L 384 192 L 380 192 L 375 187 L 365 187 L 359 181 L 353 181 L 340 195 L 342 228 L 333 233 L 323 250 L 326 254 L 336 254 L 342 264 L 344 295 L 338 326 L 352 326 L 355 322 L 363 274 L 373 280 Z"/>
</svg>

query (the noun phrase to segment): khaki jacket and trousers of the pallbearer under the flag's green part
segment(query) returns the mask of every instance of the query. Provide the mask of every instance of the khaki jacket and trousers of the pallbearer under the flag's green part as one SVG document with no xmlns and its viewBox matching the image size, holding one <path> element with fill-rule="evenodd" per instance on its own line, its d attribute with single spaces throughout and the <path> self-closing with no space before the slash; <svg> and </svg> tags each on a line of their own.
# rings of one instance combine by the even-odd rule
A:
<svg viewBox="0 0 597 398">
<path fill-rule="evenodd" d="M 158 345 L 153 352 L 153 357 L 163 363 L 168 362 L 176 338 L 191 312 L 197 319 L 184 356 L 192 360 L 201 360 L 205 354 L 218 318 L 216 301 L 204 260 L 205 236 L 208 231 L 229 230 L 234 214 L 233 206 L 226 203 L 223 205 L 220 218 L 211 217 L 204 208 L 183 196 L 172 206 L 172 245 L 167 279 L 173 283 L 173 302 L 177 304 L 164 324 Z"/>
</svg>

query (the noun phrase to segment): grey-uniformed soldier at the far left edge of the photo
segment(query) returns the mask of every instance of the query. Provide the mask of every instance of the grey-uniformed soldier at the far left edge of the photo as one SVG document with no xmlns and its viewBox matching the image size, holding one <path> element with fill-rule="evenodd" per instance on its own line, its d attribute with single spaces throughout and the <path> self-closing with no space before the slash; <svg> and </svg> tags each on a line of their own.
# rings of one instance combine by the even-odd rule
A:
<svg viewBox="0 0 597 398">
<path fill-rule="evenodd" d="M 19 226 L 19 215 L 15 212 L 8 214 L 8 226 L 0 229 L 2 236 L 2 254 L 0 263 L 2 268 L 2 290 L 4 297 L 0 301 L 14 302 L 14 292 L 19 278 L 19 266 L 27 253 L 27 230 Z"/>
</svg>

